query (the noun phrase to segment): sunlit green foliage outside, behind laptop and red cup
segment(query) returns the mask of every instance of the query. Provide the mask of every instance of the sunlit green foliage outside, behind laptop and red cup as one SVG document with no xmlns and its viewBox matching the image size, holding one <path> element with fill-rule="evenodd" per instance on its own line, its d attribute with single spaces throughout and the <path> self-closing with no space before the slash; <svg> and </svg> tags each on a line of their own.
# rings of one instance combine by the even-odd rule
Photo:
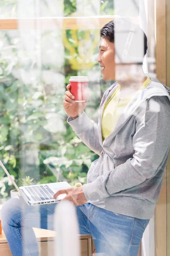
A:
<svg viewBox="0 0 170 256">
<path fill-rule="evenodd" d="M 34 178 L 34 184 L 68 181 L 74 186 L 77 182 L 86 183 L 95 154 L 75 135 L 62 107 L 68 78 L 77 75 L 77 71 L 71 69 L 65 58 L 65 87 L 57 91 L 52 90 L 42 76 L 34 83 L 29 77 L 26 81 L 25 76 L 34 72 L 31 64 L 34 60 L 26 56 L 29 62 L 21 69 L 17 52 L 20 38 L 10 36 L 8 31 L 0 32 L 1 40 L 12 49 L 6 50 L 8 55 L 3 50 L 0 52 L 0 160 L 18 186 L 23 186 L 23 177 L 28 175 Z M 11 65 L 13 60 L 14 66 Z M 23 70 L 22 78 L 19 74 Z M 55 74 L 52 66 L 42 66 L 44 70 L 50 71 L 51 76 Z M 28 185 L 31 180 L 24 181 Z M 1 171 L 0 197 L 9 196 L 13 188 Z"/>
</svg>

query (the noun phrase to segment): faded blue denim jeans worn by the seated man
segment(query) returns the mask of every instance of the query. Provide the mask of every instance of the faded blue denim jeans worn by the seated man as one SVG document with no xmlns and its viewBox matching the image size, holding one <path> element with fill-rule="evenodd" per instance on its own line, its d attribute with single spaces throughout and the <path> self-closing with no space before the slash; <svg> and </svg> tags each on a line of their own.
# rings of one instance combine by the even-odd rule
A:
<svg viewBox="0 0 170 256">
<path fill-rule="evenodd" d="M 11 198 L 1 211 L 3 231 L 13 256 L 38 256 L 38 244 L 32 227 L 54 230 L 57 204 L 27 206 L 20 198 Z M 99 256 L 137 256 L 143 232 L 149 220 L 133 218 L 85 204 L 77 208 L 79 232 L 92 235 Z"/>
</svg>

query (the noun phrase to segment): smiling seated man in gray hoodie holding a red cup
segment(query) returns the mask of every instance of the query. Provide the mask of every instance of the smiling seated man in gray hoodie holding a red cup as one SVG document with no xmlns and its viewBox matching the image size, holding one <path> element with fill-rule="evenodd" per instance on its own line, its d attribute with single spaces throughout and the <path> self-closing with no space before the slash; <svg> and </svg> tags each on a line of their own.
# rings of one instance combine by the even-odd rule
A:
<svg viewBox="0 0 170 256">
<path fill-rule="evenodd" d="M 128 31 L 126 39 L 118 35 L 117 42 L 115 35 L 123 29 Z M 93 236 L 101 256 L 137 256 L 159 198 L 170 148 L 170 96 L 167 87 L 143 73 L 141 47 L 144 56 L 147 38 L 128 20 L 111 21 L 101 29 L 97 61 L 103 79 L 116 83 L 102 98 L 98 127 L 84 112 L 87 102 L 74 101 L 70 85 L 63 101 L 68 123 L 99 159 L 91 164 L 87 184 L 63 189 L 54 198 L 66 193 L 64 200 L 77 206 L 80 233 Z M 53 229 L 55 204 L 41 206 L 38 216 L 35 207 L 20 200 L 9 200 L 3 207 L 3 230 L 14 256 L 34 256 L 38 248 L 32 227 Z"/>
</svg>

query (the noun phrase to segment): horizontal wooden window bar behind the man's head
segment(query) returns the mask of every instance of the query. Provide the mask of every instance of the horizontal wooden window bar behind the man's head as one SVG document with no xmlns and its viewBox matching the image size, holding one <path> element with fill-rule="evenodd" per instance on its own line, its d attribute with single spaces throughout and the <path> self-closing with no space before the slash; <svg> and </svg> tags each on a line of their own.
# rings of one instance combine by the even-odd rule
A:
<svg viewBox="0 0 170 256">
<path fill-rule="evenodd" d="M 101 29 L 114 15 L 90 17 L 40 17 L 0 19 L 0 29 Z M 130 17 L 139 24 L 139 17 Z"/>
</svg>

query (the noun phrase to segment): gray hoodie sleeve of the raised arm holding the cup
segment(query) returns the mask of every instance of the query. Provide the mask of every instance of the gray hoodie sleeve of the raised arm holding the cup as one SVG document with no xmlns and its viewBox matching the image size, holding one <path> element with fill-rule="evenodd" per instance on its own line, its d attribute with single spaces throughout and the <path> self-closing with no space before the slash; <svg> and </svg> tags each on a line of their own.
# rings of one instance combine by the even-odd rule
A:
<svg viewBox="0 0 170 256">
<path fill-rule="evenodd" d="M 101 154 L 103 148 L 99 143 L 98 128 L 91 122 L 84 111 L 76 119 L 72 119 L 71 116 L 69 116 L 67 122 L 85 145 L 96 154 Z"/>
</svg>

